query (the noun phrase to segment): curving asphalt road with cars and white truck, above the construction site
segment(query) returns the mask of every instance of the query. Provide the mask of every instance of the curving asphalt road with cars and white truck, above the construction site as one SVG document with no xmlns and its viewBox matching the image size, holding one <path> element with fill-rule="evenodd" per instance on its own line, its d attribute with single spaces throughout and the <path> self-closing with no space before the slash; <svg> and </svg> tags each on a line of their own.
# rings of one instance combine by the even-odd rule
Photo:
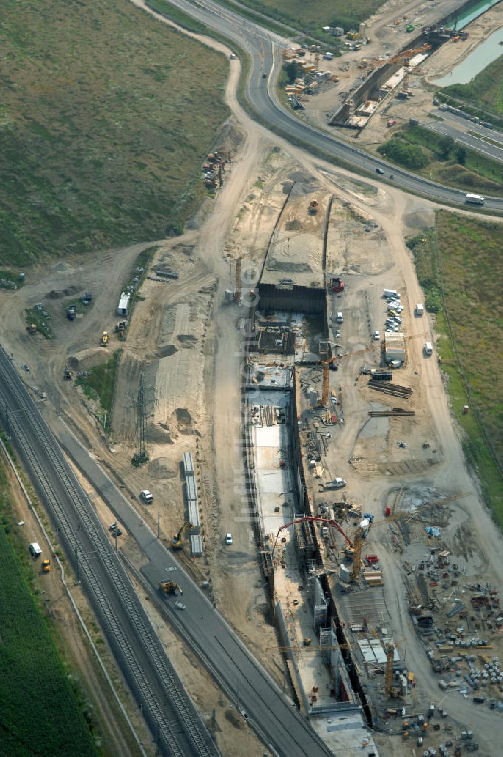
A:
<svg viewBox="0 0 503 757">
<path fill-rule="evenodd" d="M 250 54 L 251 71 L 246 85 L 247 98 L 261 114 L 262 120 L 273 130 L 280 129 L 287 139 L 290 135 L 297 143 L 301 142 L 308 152 L 321 150 L 328 156 L 344 160 L 346 164 L 352 164 L 360 170 L 371 173 L 375 173 L 376 169 L 380 168 L 384 172 L 385 179 L 390 179 L 393 175 L 393 183 L 405 192 L 419 193 L 439 203 L 464 206 L 466 192 L 436 184 L 399 167 L 390 167 L 380 158 L 337 139 L 335 134 L 332 136 L 330 133 L 315 129 L 314 126 L 309 126 L 300 121 L 293 112 L 285 110 L 279 104 L 275 92 L 275 73 L 281 67 L 281 50 L 284 48 L 284 40 L 281 37 L 262 29 L 261 26 L 257 26 L 234 11 L 222 8 L 213 0 L 194 0 L 194 3 L 188 0 L 169 0 L 169 2 L 217 30 L 230 42 L 241 45 Z M 266 74 L 265 78 L 262 78 L 262 73 Z M 474 188 L 472 192 L 477 192 L 477 189 Z M 485 207 L 503 212 L 503 198 L 486 197 Z M 474 209 L 476 206 L 471 205 L 470 210 Z"/>
</svg>

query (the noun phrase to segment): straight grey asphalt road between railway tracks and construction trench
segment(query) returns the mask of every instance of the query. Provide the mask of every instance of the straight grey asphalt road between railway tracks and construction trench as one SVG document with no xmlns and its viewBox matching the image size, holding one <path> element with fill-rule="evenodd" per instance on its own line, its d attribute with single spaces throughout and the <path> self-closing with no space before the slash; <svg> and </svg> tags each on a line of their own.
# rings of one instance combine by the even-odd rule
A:
<svg viewBox="0 0 503 757">
<path fill-rule="evenodd" d="M 177 598 L 166 597 L 166 613 L 182 637 L 202 659 L 222 689 L 228 693 L 272 754 L 281 757 L 329 757 L 328 746 L 312 731 L 309 722 L 272 681 L 269 674 L 247 650 L 238 635 L 213 607 L 199 587 L 182 569 L 178 560 L 158 540 L 131 503 L 94 458 L 61 423 L 57 439 L 76 466 L 92 483 L 112 510 L 117 522 L 138 541 L 150 562 L 141 569 L 152 593 L 159 594 L 159 581 L 171 578 L 182 587 L 185 609 L 177 609 Z M 119 539 L 120 546 L 120 539 Z"/>
</svg>

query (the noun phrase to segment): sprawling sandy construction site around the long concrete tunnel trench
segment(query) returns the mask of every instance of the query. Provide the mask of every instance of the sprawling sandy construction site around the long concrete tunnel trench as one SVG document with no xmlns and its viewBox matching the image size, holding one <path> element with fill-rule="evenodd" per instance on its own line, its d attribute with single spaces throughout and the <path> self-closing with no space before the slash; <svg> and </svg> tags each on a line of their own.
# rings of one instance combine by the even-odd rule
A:
<svg viewBox="0 0 503 757">
<path fill-rule="evenodd" d="M 157 654 L 196 713 L 180 753 L 497 755 L 503 542 L 405 245 L 434 205 L 236 113 L 184 233 L 65 257 L 2 290 L 2 382 L 19 381 L 23 407 L 0 391 L 2 424 L 24 460 L 20 418 L 37 418 L 48 457 L 26 452 L 26 471 L 42 475 L 57 443 L 82 518 L 33 481 L 45 518 L 13 479 L 30 547 L 53 558 L 51 612 L 77 657 L 91 655 L 76 609 L 98 647 L 124 711 L 101 693 L 116 754 L 178 753 L 166 744 L 182 715 L 166 710 L 164 730 L 139 683 Z M 89 524 L 117 594 L 132 592 L 134 674 L 114 662 L 128 656 L 118 626 L 101 635 Z M 56 604 L 59 547 L 73 580 Z"/>
</svg>

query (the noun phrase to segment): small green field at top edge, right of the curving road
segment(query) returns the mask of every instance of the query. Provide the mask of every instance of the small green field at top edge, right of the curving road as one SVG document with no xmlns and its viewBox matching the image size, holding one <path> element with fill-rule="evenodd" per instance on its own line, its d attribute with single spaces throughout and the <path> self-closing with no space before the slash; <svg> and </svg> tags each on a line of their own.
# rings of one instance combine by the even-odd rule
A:
<svg viewBox="0 0 503 757">
<path fill-rule="evenodd" d="M 242 0 L 244 5 L 254 11 L 265 13 L 269 17 L 294 26 L 300 32 L 311 33 L 318 39 L 327 38 L 327 43 L 334 38 L 323 33 L 323 26 L 343 26 L 344 29 L 358 29 L 360 21 L 365 21 L 373 14 L 384 0 L 360 0 L 350 3 L 348 0 L 318 0 L 315 3 L 303 0 Z"/>
</svg>

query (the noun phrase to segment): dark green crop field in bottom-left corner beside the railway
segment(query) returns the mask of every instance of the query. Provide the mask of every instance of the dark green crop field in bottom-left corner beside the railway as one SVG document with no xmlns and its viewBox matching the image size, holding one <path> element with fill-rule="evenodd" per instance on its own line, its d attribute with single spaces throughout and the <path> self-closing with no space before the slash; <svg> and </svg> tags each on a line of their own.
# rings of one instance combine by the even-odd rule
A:
<svg viewBox="0 0 503 757">
<path fill-rule="evenodd" d="M 8 484 L 1 467 L 0 509 L 0 754 L 98 757 L 76 690 L 6 535 Z"/>
</svg>

